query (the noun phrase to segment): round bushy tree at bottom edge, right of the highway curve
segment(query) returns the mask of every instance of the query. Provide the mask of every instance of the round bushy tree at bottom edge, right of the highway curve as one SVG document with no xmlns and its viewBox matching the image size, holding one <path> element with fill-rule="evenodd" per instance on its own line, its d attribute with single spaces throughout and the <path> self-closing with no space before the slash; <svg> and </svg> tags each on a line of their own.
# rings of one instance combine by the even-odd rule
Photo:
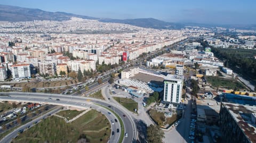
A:
<svg viewBox="0 0 256 143">
<path fill-rule="evenodd" d="M 147 141 L 148 143 L 162 143 L 164 132 L 157 126 L 150 124 L 147 128 Z"/>
</svg>

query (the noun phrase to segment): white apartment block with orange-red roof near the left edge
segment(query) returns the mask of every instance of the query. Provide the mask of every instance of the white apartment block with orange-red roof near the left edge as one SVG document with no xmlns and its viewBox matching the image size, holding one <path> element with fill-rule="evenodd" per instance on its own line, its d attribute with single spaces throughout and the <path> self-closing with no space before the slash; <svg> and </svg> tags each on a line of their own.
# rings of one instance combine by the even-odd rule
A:
<svg viewBox="0 0 256 143">
<path fill-rule="evenodd" d="M 31 72 L 29 64 L 14 64 L 11 65 L 12 79 L 30 79 Z"/>
</svg>

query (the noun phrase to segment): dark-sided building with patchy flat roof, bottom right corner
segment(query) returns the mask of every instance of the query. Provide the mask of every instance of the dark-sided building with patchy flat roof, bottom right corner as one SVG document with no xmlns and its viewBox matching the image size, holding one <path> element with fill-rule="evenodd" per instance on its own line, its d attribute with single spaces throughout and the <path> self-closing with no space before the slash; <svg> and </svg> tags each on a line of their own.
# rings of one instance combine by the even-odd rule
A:
<svg viewBox="0 0 256 143">
<path fill-rule="evenodd" d="M 226 142 L 256 142 L 256 107 L 221 103 L 219 123 Z"/>
</svg>

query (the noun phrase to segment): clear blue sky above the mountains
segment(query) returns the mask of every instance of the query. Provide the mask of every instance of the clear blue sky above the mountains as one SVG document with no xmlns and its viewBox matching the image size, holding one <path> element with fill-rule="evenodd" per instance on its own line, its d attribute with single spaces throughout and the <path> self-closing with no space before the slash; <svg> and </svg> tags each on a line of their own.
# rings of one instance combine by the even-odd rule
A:
<svg viewBox="0 0 256 143">
<path fill-rule="evenodd" d="M 0 4 L 95 18 L 155 18 L 167 22 L 256 24 L 255 0 L 1 0 Z"/>
</svg>

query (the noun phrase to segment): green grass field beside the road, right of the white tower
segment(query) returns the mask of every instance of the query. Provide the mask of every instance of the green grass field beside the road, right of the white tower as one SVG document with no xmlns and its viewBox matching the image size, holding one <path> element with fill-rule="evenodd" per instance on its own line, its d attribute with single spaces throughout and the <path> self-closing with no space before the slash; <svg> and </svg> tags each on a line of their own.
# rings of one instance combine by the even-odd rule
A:
<svg viewBox="0 0 256 143">
<path fill-rule="evenodd" d="M 213 87 L 227 88 L 227 89 L 239 89 L 244 90 L 245 86 L 236 81 L 235 79 L 223 79 L 219 77 L 206 77 L 207 82 L 210 82 Z"/>
</svg>

